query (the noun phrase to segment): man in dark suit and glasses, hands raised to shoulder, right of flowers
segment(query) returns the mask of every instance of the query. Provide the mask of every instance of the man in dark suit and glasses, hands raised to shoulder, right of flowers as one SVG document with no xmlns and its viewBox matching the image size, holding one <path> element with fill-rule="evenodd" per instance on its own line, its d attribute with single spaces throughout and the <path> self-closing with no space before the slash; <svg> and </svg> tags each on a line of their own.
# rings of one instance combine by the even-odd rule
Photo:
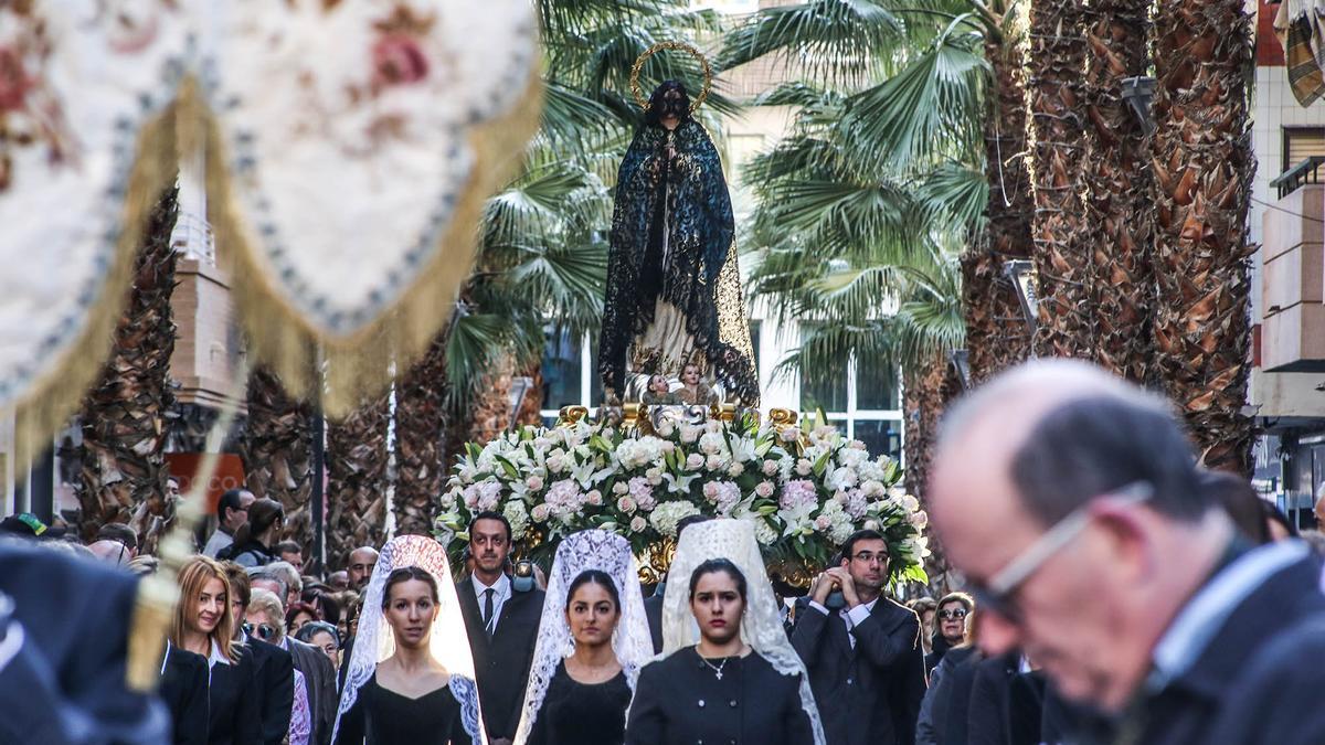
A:
<svg viewBox="0 0 1325 745">
<path fill-rule="evenodd" d="M 841 563 L 815 578 L 798 602 L 791 644 L 810 671 L 829 745 L 912 745 L 925 696 L 920 618 L 882 597 L 888 542 L 859 530 Z M 829 610 L 833 586 L 845 606 Z"/>
</svg>

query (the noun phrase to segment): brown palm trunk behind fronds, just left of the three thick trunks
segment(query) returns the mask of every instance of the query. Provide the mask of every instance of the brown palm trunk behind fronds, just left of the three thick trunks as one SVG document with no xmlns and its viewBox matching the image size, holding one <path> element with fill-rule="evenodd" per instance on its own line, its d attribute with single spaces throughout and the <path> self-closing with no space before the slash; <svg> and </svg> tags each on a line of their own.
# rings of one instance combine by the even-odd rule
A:
<svg viewBox="0 0 1325 745">
<path fill-rule="evenodd" d="M 1003 262 L 1031 256 L 1031 180 L 1026 170 L 1026 54 L 988 29 L 984 58 L 992 90 L 984 118 L 990 196 L 978 247 L 962 257 L 962 305 L 973 382 L 1031 355 L 1031 331 Z"/>
</svg>

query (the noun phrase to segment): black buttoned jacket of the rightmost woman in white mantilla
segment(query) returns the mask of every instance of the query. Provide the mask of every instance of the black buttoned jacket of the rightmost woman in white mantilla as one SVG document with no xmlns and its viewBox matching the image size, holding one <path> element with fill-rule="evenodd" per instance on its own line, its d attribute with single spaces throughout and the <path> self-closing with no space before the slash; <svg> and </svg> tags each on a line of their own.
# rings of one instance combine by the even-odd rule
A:
<svg viewBox="0 0 1325 745">
<path fill-rule="evenodd" d="M 729 676 L 733 672 L 739 676 L 738 699 L 727 697 L 731 677 L 717 680 L 694 647 L 644 665 L 625 722 L 625 744 L 814 744 L 799 676 L 782 675 L 758 654 L 741 659 L 739 667 L 727 669 Z"/>
</svg>

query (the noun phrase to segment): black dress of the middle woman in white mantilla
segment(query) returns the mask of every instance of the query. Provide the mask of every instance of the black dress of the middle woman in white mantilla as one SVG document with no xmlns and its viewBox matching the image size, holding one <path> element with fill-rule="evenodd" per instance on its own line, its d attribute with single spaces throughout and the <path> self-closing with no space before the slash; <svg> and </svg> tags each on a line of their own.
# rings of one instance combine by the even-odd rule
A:
<svg viewBox="0 0 1325 745">
<path fill-rule="evenodd" d="M 529 745 L 621 745 L 629 705 L 624 672 L 607 683 L 586 684 L 567 675 L 562 663 L 547 685 Z"/>
</svg>

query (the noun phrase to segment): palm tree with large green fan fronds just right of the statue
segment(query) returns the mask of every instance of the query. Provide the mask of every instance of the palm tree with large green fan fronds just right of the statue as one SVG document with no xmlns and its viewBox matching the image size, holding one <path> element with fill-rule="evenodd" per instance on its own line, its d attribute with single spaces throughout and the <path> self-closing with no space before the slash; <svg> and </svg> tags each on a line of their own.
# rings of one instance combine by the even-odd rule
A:
<svg viewBox="0 0 1325 745">
<path fill-rule="evenodd" d="M 978 229 L 980 21 L 965 4 L 811 1 L 761 11 L 731 32 L 729 69 L 795 60 L 794 82 L 757 105 L 794 106 L 791 134 L 746 168 L 755 209 L 751 293 L 780 318 L 814 319 L 782 371 L 828 382 L 853 359 L 901 369 L 909 488 L 920 490 L 962 343 L 958 236 Z M 1011 296 L 1015 301 L 1015 296 Z M 924 411 L 918 408 L 924 407 Z"/>
</svg>

